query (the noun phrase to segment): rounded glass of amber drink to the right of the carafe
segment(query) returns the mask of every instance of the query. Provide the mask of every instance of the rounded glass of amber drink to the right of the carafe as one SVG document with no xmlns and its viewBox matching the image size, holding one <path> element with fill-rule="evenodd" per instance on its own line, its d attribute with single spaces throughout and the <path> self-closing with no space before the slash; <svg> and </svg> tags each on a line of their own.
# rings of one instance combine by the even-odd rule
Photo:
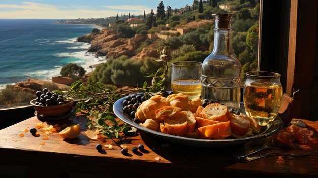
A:
<svg viewBox="0 0 318 178">
<path fill-rule="evenodd" d="M 266 71 L 246 73 L 244 106 L 246 114 L 265 126 L 275 119 L 281 104 L 280 74 Z"/>
</svg>

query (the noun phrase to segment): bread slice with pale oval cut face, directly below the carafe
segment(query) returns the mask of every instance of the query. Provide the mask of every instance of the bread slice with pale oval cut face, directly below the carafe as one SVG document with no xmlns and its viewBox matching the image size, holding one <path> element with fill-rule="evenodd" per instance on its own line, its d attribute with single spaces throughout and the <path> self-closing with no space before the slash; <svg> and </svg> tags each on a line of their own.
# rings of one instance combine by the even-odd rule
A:
<svg viewBox="0 0 318 178">
<path fill-rule="evenodd" d="M 227 106 L 214 103 L 207 105 L 201 112 L 202 117 L 214 121 L 227 122 L 229 121 L 229 111 Z"/>
</svg>

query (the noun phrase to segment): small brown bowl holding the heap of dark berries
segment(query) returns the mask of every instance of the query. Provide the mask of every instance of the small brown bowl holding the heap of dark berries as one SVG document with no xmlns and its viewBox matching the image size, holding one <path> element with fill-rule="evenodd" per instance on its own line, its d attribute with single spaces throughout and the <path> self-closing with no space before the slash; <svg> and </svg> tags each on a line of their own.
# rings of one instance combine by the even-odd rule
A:
<svg viewBox="0 0 318 178">
<path fill-rule="evenodd" d="M 38 114 L 47 117 L 47 116 L 64 116 L 71 109 L 74 103 L 74 100 L 66 100 L 65 104 L 62 105 L 51 105 L 51 106 L 40 106 L 35 104 L 36 99 L 31 100 L 31 105 L 37 111 Z"/>
</svg>

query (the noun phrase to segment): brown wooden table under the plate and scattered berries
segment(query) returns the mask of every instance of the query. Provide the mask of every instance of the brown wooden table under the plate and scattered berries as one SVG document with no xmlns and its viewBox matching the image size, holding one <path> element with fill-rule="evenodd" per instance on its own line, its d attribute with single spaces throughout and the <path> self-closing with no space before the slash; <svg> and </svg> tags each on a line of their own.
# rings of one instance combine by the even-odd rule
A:
<svg viewBox="0 0 318 178">
<path fill-rule="evenodd" d="M 318 130 L 317 122 L 303 121 Z M 316 154 L 303 157 L 272 156 L 248 163 L 233 162 L 233 154 L 250 149 L 254 143 L 226 148 L 192 148 L 167 144 L 166 141 L 143 132 L 132 135 L 120 143 L 104 138 L 89 140 L 85 135 L 86 118 L 81 116 L 74 117 L 73 122 L 81 125 L 82 133 L 73 140 L 63 140 L 58 133 L 48 136 L 49 140 L 43 140 L 44 136 L 34 137 L 29 132 L 24 133 L 24 137 L 19 136 L 23 133 L 21 132 L 23 129 L 30 129 L 37 122 L 40 121 L 32 117 L 0 130 L 0 167 L 2 168 L 0 177 L 20 176 L 20 174 L 26 174 L 23 177 L 318 176 L 318 155 Z M 72 123 L 72 121 L 65 122 Z M 317 135 L 314 137 L 318 138 Z M 41 142 L 45 145 L 40 145 Z M 105 149 L 105 152 L 100 153 L 95 149 L 98 143 L 113 144 L 114 149 Z M 146 151 L 132 153 L 131 148 L 140 143 L 144 144 Z M 121 154 L 120 144 L 128 146 L 128 155 Z M 318 149 L 318 144 L 315 149 Z M 274 150 L 284 149 L 275 148 Z M 264 150 L 260 153 L 271 151 L 273 150 Z M 156 157 L 160 160 L 155 160 Z"/>
</svg>

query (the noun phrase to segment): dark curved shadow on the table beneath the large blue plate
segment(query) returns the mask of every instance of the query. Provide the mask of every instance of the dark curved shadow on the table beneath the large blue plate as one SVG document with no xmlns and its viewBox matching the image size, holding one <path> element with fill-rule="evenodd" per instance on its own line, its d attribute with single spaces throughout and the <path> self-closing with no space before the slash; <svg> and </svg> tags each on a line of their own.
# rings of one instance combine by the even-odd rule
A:
<svg viewBox="0 0 318 178">
<path fill-rule="evenodd" d="M 144 143 L 156 154 L 174 164 L 183 164 L 190 167 L 212 166 L 227 167 L 235 164 L 233 155 L 244 154 L 258 143 L 245 143 L 219 148 L 198 148 L 169 143 L 145 132 L 140 132 Z M 264 141 L 259 141 L 264 143 Z M 208 159 L 207 159 L 208 158 Z M 204 160 L 204 163 L 202 163 Z"/>
</svg>

